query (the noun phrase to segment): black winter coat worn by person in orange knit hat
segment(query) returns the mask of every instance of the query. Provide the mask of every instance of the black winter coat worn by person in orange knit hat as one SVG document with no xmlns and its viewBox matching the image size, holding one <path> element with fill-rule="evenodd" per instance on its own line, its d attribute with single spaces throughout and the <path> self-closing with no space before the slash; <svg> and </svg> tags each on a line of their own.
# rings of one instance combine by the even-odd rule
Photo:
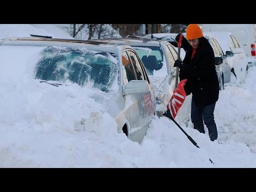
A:
<svg viewBox="0 0 256 192">
<path fill-rule="evenodd" d="M 192 46 L 185 49 L 183 68 L 180 69 L 180 81 L 187 78 L 186 92 L 193 95 L 195 105 L 204 107 L 219 99 L 219 81 L 214 65 L 214 52 L 205 37 L 199 38 L 199 47 L 191 59 Z"/>
</svg>

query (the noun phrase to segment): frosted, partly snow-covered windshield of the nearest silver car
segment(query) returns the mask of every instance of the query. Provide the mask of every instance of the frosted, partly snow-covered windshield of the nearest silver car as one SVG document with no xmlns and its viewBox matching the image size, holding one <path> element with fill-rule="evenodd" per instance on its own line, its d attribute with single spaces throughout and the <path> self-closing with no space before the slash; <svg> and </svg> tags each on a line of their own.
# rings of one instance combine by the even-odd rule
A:
<svg viewBox="0 0 256 192">
<path fill-rule="evenodd" d="M 47 81 L 52 85 L 60 85 L 56 82 L 71 82 L 96 87 L 105 92 L 118 90 L 119 68 L 117 55 L 114 53 L 59 46 L 1 48 L 13 55 L 7 58 L 9 62 L 28 63 L 33 60 L 34 75 L 31 76 L 41 79 L 41 82 Z M 17 56 L 20 58 L 16 58 Z M 5 55 L 1 54 L 1 61 L 3 57 Z"/>
</svg>

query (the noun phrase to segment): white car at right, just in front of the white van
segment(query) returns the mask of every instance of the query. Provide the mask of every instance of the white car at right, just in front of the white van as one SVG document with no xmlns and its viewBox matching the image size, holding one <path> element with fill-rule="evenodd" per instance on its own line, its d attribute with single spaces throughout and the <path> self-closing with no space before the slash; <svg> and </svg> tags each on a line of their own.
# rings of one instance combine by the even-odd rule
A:
<svg viewBox="0 0 256 192">
<path fill-rule="evenodd" d="M 226 53 L 227 62 L 231 67 L 232 73 L 239 79 L 243 81 L 246 77 L 249 64 L 247 62 L 246 54 L 239 44 L 238 39 L 231 33 L 227 31 L 204 31 L 204 34 L 212 35 L 219 42 L 222 50 Z M 227 51 L 232 53 L 227 55 Z"/>
</svg>

